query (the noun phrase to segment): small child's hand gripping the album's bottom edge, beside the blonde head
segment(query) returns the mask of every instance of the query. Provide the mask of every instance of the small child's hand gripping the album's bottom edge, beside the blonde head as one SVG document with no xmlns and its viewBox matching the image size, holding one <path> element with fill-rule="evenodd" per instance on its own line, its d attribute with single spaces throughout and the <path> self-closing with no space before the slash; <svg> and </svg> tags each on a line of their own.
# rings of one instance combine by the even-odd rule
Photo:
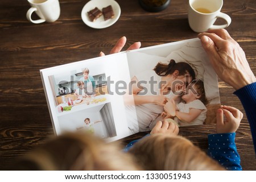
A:
<svg viewBox="0 0 256 182">
<path fill-rule="evenodd" d="M 154 128 L 151 130 L 150 134 L 167 134 L 167 135 L 177 135 L 179 133 L 179 127 L 174 123 L 167 121 L 158 121 Z"/>
</svg>

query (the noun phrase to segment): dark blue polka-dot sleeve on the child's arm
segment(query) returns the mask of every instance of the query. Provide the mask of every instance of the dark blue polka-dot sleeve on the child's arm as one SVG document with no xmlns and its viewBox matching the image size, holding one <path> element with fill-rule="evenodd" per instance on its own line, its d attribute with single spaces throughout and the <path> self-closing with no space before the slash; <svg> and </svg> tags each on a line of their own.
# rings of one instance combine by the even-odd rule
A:
<svg viewBox="0 0 256 182">
<path fill-rule="evenodd" d="M 208 155 L 229 171 L 242 170 L 235 137 L 236 133 L 208 135 Z"/>
</svg>

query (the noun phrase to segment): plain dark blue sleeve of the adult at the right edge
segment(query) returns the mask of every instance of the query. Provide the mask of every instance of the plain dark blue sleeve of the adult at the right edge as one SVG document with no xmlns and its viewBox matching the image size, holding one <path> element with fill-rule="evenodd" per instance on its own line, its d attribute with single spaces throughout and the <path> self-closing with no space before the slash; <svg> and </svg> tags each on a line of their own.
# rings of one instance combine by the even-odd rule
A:
<svg viewBox="0 0 256 182">
<path fill-rule="evenodd" d="M 234 94 L 241 100 L 243 108 L 245 109 L 248 122 L 250 123 L 254 150 L 256 152 L 256 82 L 236 90 Z"/>
</svg>

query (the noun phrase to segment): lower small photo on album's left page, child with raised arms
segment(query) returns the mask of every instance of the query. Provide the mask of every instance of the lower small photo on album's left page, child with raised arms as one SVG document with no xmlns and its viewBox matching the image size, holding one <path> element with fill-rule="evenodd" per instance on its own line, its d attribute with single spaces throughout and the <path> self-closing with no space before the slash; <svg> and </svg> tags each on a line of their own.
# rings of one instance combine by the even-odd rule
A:
<svg viewBox="0 0 256 182">
<path fill-rule="evenodd" d="M 116 137 L 112 106 L 109 103 L 58 117 L 61 133 L 86 131 L 101 138 Z"/>
</svg>

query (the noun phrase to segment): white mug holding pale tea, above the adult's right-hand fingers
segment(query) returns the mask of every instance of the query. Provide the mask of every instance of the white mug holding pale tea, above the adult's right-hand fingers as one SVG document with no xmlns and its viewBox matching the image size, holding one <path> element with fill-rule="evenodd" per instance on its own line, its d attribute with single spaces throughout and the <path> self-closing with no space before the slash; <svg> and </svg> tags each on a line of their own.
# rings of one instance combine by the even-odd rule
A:
<svg viewBox="0 0 256 182">
<path fill-rule="evenodd" d="M 205 32 L 209 29 L 226 28 L 231 23 L 229 15 L 221 13 L 223 0 L 189 0 L 188 23 L 195 32 Z M 217 18 L 222 18 L 226 24 L 214 25 Z"/>
</svg>

